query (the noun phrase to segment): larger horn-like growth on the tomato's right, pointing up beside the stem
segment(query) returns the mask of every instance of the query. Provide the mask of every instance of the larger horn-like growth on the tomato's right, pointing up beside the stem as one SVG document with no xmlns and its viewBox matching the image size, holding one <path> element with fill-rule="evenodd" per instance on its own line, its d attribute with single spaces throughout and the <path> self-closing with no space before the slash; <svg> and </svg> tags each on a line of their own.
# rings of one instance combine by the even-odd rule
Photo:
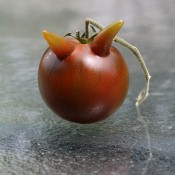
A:
<svg viewBox="0 0 175 175">
<path fill-rule="evenodd" d="M 124 24 L 124 20 L 114 22 L 104 28 L 94 39 L 91 44 L 92 51 L 98 56 L 107 56 L 112 45 L 115 35 L 119 32 Z"/>
</svg>

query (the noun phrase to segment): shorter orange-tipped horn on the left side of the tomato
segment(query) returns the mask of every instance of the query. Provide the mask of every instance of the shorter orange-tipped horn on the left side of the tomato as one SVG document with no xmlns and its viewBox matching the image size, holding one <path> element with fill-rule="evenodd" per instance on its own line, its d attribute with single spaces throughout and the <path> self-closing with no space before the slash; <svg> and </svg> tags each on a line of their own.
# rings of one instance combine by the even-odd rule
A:
<svg viewBox="0 0 175 175">
<path fill-rule="evenodd" d="M 65 39 L 54 33 L 43 31 L 43 36 L 47 41 L 50 49 L 56 54 L 58 59 L 63 60 L 65 56 L 68 56 L 74 50 L 74 44 L 72 41 Z"/>
</svg>

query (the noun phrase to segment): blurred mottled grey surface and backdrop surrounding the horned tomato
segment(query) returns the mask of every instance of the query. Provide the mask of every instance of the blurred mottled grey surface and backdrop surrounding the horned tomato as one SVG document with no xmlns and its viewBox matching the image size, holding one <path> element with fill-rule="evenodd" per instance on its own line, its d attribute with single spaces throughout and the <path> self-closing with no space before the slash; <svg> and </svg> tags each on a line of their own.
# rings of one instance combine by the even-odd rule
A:
<svg viewBox="0 0 175 175">
<path fill-rule="evenodd" d="M 174 0 L 0 0 L 0 172 L 175 174 L 174 9 Z M 138 111 L 141 67 L 114 44 L 129 66 L 128 97 L 109 119 L 79 125 L 44 104 L 37 71 L 47 48 L 41 32 L 83 32 L 87 17 L 103 26 L 124 19 L 119 36 L 139 48 L 152 79 L 150 97 Z"/>
</svg>

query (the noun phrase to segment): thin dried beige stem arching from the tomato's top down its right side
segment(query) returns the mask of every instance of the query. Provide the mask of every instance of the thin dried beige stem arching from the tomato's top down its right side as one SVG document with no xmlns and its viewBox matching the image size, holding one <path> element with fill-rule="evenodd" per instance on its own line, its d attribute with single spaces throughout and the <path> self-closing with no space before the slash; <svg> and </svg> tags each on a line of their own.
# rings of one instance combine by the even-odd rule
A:
<svg viewBox="0 0 175 175">
<path fill-rule="evenodd" d="M 103 29 L 103 27 L 100 24 L 98 24 L 96 21 L 94 21 L 90 18 L 87 18 L 85 20 L 85 37 L 87 37 L 87 38 L 89 37 L 89 24 L 95 26 L 99 30 Z M 138 50 L 137 47 L 133 46 L 132 44 L 128 43 L 127 41 L 125 41 L 124 39 L 119 38 L 119 37 L 115 37 L 114 41 L 125 46 L 126 48 L 130 49 L 133 52 L 133 54 L 136 56 L 137 60 L 139 61 L 140 65 L 142 67 L 142 70 L 143 70 L 143 73 L 145 76 L 145 80 L 146 80 L 146 86 L 145 86 L 145 89 L 143 89 L 139 93 L 138 97 L 136 98 L 136 106 L 139 106 L 149 96 L 151 75 L 150 75 L 150 73 L 146 67 L 145 61 L 144 61 L 144 59 L 143 59 L 142 55 L 140 54 L 140 51 Z"/>
</svg>

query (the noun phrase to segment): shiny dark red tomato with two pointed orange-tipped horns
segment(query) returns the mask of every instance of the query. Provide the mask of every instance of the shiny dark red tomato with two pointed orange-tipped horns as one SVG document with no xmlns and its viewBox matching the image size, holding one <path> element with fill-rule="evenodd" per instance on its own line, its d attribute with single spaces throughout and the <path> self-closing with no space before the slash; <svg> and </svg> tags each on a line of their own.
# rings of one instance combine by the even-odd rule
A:
<svg viewBox="0 0 175 175">
<path fill-rule="evenodd" d="M 44 32 L 50 48 L 39 65 L 39 89 L 57 115 L 93 123 L 122 104 L 128 91 L 128 69 L 119 51 L 111 47 L 121 26 L 121 21 L 112 24 L 87 44 Z"/>
</svg>

